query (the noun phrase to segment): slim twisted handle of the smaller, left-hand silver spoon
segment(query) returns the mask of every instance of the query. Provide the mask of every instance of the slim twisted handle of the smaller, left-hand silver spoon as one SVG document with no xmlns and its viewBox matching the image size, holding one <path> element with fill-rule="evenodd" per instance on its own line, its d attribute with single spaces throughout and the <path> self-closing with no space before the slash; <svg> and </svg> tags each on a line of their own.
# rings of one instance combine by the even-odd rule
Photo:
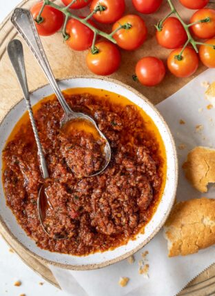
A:
<svg viewBox="0 0 215 296">
<path fill-rule="evenodd" d="M 30 116 L 30 122 L 32 124 L 32 129 L 34 131 L 34 137 L 37 142 L 37 148 L 39 153 L 39 160 L 41 164 L 41 172 L 43 175 L 43 178 L 48 178 L 48 168 L 46 166 L 45 157 L 43 155 L 43 149 L 41 146 L 41 142 L 39 141 L 39 135 L 37 131 L 37 126 L 34 121 L 34 115 L 32 112 L 32 106 L 30 103 L 30 94 L 28 90 L 28 82 L 26 78 L 26 72 L 25 72 L 25 63 L 24 63 L 24 56 L 23 56 L 23 46 L 21 44 L 21 41 L 19 40 L 12 40 L 10 43 L 8 43 L 8 55 L 10 57 L 10 61 L 12 63 L 12 66 L 14 68 L 14 71 L 16 72 L 17 78 L 19 80 L 19 84 L 21 86 L 21 89 L 23 91 L 23 95 L 25 97 L 25 102 L 28 108 L 29 116 Z"/>
</svg>

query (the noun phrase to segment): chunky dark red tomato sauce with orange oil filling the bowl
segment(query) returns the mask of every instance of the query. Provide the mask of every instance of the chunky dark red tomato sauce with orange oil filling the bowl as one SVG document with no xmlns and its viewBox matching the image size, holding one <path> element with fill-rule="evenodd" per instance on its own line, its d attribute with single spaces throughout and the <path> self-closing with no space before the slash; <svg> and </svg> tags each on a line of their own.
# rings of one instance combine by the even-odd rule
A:
<svg viewBox="0 0 215 296">
<path fill-rule="evenodd" d="M 76 135 L 79 140 L 72 139 L 71 144 L 70 139 L 62 139 L 59 127 L 63 110 L 55 97 L 34 108 L 51 178 L 47 193 L 53 210 L 45 222 L 52 234 L 63 232 L 68 239 L 52 239 L 39 223 L 37 196 L 43 179 L 27 115 L 3 150 L 7 204 L 40 248 L 88 255 L 126 244 L 151 219 L 161 198 L 165 156 L 158 133 L 152 131 L 150 119 L 142 116 L 130 101 L 119 104 L 111 93 L 110 98 L 103 94 L 103 97 L 83 91 L 78 95 L 65 94 L 72 109 L 94 117 L 110 141 L 110 165 L 95 177 L 80 178 L 74 172 L 83 170 L 85 165 L 96 169 L 100 166 L 102 160 L 96 146 L 99 144 L 80 132 Z"/>
</svg>

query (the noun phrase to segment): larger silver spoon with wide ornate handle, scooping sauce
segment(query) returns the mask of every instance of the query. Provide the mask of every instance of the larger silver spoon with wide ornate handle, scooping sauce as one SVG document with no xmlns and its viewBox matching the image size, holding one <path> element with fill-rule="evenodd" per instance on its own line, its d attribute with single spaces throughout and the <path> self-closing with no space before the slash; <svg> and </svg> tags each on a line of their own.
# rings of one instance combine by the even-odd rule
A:
<svg viewBox="0 0 215 296">
<path fill-rule="evenodd" d="M 110 144 L 107 141 L 107 138 L 105 137 L 105 135 L 103 135 L 103 132 L 99 130 L 98 126 L 96 125 L 96 122 L 94 121 L 94 119 L 92 119 L 92 117 L 85 115 L 81 112 L 72 111 L 68 103 L 65 101 L 62 92 L 57 84 L 57 81 L 54 78 L 54 75 L 50 68 L 50 64 L 48 63 L 48 59 L 45 56 L 45 51 L 43 50 L 43 46 L 41 40 L 39 39 L 34 19 L 30 11 L 25 10 L 23 8 L 16 8 L 12 14 L 11 21 L 14 27 L 17 29 L 17 31 L 21 34 L 21 36 L 27 43 L 28 47 L 34 54 L 34 57 L 36 57 L 39 65 L 45 73 L 45 76 L 47 77 L 50 85 L 52 86 L 55 95 L 57 96 L 57 99 L 61 103 L 61 106 L 64 110 L 64 116 L 61 120 L 61 128 L 63 128 L 63 126 L 65 126 L 65 124 L 68 123 L 68 121 L 71 121 L 72 119 L 83 119 L 85 121 L 90 121 L 90 123 L 93 124 L 94 128 L 96 128 L 96 130 L 99 132 L 100 137 L 105 140 L 105 146 L 103 149 L 105 153 L 105 163 L 103 167 L 101 168 L 101 170 L 94 172 L 94 174 L 85 177 L 92 177 L 101 174 L 101 172 L 103 172 L 105 168 L 107 168 L 111 158 L 111 149 Z"/>
</svg>

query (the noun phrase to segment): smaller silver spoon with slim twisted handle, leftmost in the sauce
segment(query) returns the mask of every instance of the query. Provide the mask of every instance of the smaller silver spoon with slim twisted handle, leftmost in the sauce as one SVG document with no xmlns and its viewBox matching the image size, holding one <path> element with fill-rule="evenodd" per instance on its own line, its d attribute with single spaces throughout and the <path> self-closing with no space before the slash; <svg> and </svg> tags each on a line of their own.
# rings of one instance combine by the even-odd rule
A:
<svg viewBox="0 0 215 296">
<path fill-rule="evenodd" d="M 12 66 L 14 68 L 14 71 L 16 72 L 21 89 L 23 91 L 26 106 L 28 108 L 30 122 L 32 124 L 34 137 L 35 137 L 35 140 L 37 143 L 37 149 L 38 149 L 39 161 L 40 161 L 40 169 L 41 169 L 43 179 L 45 180 L 45 179 L 49 178 L 48 168 L 46 166 L 45 157 L 43 155 L 43 149 L 41 146 L 41 142 L 39 140 L 37 126 L 35 124 L 34 115 L 32 112 L 32 106 L 30 103 L 30 94 L 29 94 L 29 90 L 28 90 L 28 82 L 27 82 L 26 73 L 25 73 L 23 46 L 21 44 L 21 41 L 16 40 L 16 39 L 10 41 L 10 43 L 8 43 L 7 50 L 8 50 L 8 56 L 10 58 L 10 61 L 11 61 Z M 42 197 L 42 195 L 45 195 L 45 186 L 44 185 L 41 186 L 41 188 L 39 190 L 39 198 L 37 200 L 37 209 L 39 212 L 39 220 L 41 222 L 41 225 L 43 226 L 43 230 L 45 231 L 45 233 L 47 233 L 49 235 L 48 231 L 45 229 L 45 226 L 43 225 L 43 221 L 45 219 L 45 213 L 46 213 L 48 206 L 52 207 L 52 205 L 50 204 L 48 197 L 44 198 L 44 197 Z"/>
</svg>

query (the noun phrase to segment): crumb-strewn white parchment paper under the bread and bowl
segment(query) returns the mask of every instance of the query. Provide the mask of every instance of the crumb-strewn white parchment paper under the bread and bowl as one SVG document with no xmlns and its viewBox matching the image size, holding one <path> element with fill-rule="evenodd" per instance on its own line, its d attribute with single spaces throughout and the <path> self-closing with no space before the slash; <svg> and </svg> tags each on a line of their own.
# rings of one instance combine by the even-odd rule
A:
<svg viewBox="0 0 215 296">
<path fill-rule="evenodd" d="M 205 88 L 201 86 L 203 81 L 212 82 L 214 79 L 215 70 L 209 69 L 157 106 L 170 126 L 178 150 L 178 201 L 201 196 L 215 198 L 213 186 L 210 186 L 207 194 L 198 193 L 187 182 L 181 169 L 187 152 L 195 146 L 215 147 L 215 109 L 207 108 L 209 102 L 204 99 Z M 181 119 L 185 124 L 180 124 Z M 196 129 L 196 126 L 201 128 Z M 138 262 L 144 250 L 149 251 L 149 279 L 139 275 Z M 161 230 L 134 255 L 134 264 L 124 260 L 99 270 L 74 271 L 53 266 L 50 269 L 61 288 L 73 296 L 174 296 L 198 273 L 215 262 L 214 250 L 212 246 L 198 254 L 170 259 L 167 257 L 167 241 Z M 124 288 L 118 284 L 120 277 L 130 278 Z"/>
</svg>

